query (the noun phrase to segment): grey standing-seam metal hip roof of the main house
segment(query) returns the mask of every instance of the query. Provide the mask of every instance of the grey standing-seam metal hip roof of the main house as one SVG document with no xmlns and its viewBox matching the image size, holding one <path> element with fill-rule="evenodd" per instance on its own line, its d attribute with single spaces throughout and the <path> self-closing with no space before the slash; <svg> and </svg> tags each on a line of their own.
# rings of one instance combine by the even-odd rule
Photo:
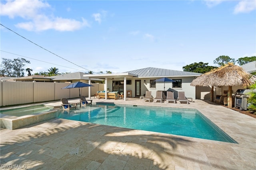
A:
<svg viewBox="0 0 256 170">
<path fill-rule="evenodd" d="M 147 67 L 144 69 L 127 71 L 125 73 L 136 74 L 138 75 L 138 77 L 189 77 L 189 76 L 201 75 L 201 73 L 177 71 L 177 70 L 170 70 L 170 69 L 160 69 L 160 68 L 154 68 L 154 67 Z"/>
</svg>

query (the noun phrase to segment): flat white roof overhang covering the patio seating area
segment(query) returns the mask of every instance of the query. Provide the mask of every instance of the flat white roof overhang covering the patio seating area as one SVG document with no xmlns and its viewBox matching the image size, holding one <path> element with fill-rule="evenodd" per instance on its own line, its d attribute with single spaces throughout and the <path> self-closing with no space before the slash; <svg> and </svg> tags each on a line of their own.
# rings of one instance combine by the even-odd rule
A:
<svg viewBox="0 0 256 170">
<path fill-rule="evenodd" d="M 112 74 L 85 74 L 83 75 L 83 77 L 89 77 L 89 78 L 95 78 L 95 79 L 105 79 L 105 78 L 134 78 L 134 77 L 138 77 L 137 74 L 132 74 L 132 73 L 112 73 Z"/>
</svg>

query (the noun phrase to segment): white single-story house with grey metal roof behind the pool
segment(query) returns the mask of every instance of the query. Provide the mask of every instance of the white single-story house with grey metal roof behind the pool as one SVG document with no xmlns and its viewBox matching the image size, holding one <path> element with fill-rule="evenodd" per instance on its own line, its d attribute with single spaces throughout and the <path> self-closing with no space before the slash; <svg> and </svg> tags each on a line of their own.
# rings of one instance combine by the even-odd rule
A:
<svg viewBox="0 0 256 170">
<path fill-rule="evenodd" d="M 119 93 L 123 92 L 124 100 L 126 100 L 126 97 L 144 96 L 146 91 L 152 91 L 152 96 L 155 97 L 156 91 L 164 91 L 164 89 L 165 93 L 166 91 L 173 91 L 174 98 L 178 97 L 178 91 L 185 91 L 186 97 L 196 99 L 196 87 L 190 86 L 190 83 L 200 75 L 200 73 L 147 67 L 124 73 L 84 74 L 83 76 L 89 78 L 89 83 L 92 78 L 104 79 L 106 95 L 107 89 L 109 91 L 118 91 Z M 167 77 L 175 82 L 155 81 L 162 77 Z"/>
</svg>

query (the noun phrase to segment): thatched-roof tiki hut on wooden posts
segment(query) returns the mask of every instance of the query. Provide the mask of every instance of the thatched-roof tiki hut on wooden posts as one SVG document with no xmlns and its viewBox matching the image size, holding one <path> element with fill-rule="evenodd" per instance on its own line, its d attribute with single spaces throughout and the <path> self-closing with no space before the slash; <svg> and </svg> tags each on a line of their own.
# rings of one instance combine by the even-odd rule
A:
<svg viewBox="0 0 256 170">
<path fill-rule="evenodd" d="M 192 86 L 228 86 L 228 107 L 232 108 L 232 86 L 249 87 L 256 81 L 255 76 L 244 71 L 244 69 L 233 63 L 228 63 L 217 69 L 213 69 L 194 79 Z"/>
</svg>

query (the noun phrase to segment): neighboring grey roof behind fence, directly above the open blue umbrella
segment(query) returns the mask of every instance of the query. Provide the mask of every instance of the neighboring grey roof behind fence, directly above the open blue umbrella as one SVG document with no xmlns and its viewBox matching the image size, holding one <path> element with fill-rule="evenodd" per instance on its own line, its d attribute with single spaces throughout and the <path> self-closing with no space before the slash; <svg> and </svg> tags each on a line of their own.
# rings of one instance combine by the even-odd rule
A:
<svg viewBox="0 0 256 170">
<path fill-rule="evenodd" d="M 83 73 L 83 72 L 75 72 L 75 73 L 67 73 L 67 74 L 62 74 L 62 75 L 54 75 L 51 76 L 51 78 L 56 81 L 56 80 L 89 80 L 88 77 L 84 77 L 83 75 L 91 75 L 88 73 Z M 99 79 L 92 79 L 95 81 L 101 81 Z"/>
</svg>

